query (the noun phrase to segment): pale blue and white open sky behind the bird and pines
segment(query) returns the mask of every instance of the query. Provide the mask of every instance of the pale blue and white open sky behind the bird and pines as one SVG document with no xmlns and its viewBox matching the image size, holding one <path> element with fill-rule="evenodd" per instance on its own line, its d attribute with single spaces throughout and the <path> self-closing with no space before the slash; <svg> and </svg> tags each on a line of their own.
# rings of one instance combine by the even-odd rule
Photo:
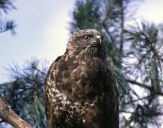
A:
<svg viewBox="0 0 163 128">
<path fill-rule="evenodd" d="M 0 83 L 8 82 L 4 69 L 12 64 L 23 65 L 32 57 L 51 63 L 66 49 L 69 22 L 75 0 L 15 0 L 16 10 L 7 18 L 15 20 L 16 35 L 0 34 Z M 163 22 L 163 0 L 142 0 L 134 14 L 136 20 Z"/>
</svg>

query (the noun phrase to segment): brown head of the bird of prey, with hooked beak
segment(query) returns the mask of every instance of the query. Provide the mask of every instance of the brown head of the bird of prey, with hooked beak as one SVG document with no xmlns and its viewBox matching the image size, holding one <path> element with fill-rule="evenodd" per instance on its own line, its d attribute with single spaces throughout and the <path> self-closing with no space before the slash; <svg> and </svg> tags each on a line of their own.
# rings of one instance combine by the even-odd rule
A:
<svg viewBox="0 0 163 128">
<path fill-rule="evenodd" d="M 106 54 L 102 35 L 95 29 L 84 29 L 74 32 L 70 38 L 68 51 L 78 51 L 89 57 L 104 57 Z"/>
</svg>

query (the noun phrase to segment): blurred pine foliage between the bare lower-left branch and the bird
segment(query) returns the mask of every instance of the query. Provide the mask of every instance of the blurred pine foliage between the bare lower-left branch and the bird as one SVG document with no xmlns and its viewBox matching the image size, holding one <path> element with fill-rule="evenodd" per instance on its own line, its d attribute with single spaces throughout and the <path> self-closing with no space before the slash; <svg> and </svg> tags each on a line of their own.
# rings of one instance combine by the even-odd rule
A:
<svg viewBox="0 0 163 128">
<path fill-rule="evenodd" d="M 34 128 L 47 127 L 44 109 L 44 82 L 46 63 L 34 58 L 21 68 L 11 66 L 9 72 L 13 82 L 0 86 L 1 94 L 14 111 Z"/>
</svg>

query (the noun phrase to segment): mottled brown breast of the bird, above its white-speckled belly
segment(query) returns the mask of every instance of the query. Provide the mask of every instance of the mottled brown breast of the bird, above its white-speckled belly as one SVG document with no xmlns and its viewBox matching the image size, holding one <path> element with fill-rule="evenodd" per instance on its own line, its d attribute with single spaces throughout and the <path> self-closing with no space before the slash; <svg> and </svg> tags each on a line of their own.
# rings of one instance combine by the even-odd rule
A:
<svg viewBox="0 0 163 128">
<path fill-rule="evenodd" d="M 56 88 L 68 97 L 95 97 L 105 90 L 106 64 L 100 57 L 68 56 L 58 68 Z"/>
</svg>

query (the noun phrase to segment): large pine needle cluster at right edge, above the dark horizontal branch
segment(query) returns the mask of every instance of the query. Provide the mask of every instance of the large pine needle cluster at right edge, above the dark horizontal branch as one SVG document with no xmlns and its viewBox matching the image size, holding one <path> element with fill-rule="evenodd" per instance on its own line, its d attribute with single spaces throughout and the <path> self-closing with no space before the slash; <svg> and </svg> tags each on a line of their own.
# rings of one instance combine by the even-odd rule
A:
<svg viewBox="0 0 163 128">
<path fill-rule="evenodd" d="M 137 28 L 126 31 L 127 40 L 132 42 L 130 50 L 126 51 L 126 56 L 133 56 L 137 60 L 132 68 L 143 74 L 142 81 L 150 82 L 153 91 L 160 90 L 163 63 L 163 42 L 160 35 L 163 33 L 156 25 L 145 22 Z"/>
</svg>

